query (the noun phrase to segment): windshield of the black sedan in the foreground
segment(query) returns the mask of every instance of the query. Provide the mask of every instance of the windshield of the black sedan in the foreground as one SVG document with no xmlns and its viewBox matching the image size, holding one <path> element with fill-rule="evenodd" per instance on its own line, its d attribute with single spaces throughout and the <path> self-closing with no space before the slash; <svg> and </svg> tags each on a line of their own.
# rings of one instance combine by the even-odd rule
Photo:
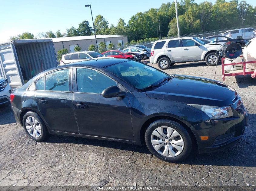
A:
<svg viewBox="0 0 256 191">
<path fill-rule="evenodd" d="M 106 67 L 109 72 L 117 75 L 137 89 L 143 89 L 152 84 L 158 84 L 169 75 L 151 66 L 133 60 Z"/>
</svg>

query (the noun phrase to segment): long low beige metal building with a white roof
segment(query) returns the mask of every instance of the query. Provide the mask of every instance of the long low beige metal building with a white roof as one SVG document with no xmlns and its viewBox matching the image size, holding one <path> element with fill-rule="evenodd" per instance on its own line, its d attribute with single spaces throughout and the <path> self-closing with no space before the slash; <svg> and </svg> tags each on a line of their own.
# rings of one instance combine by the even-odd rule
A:
<svg viewBox="0 0 256 191">
<path fill-rule="evenodd" d="M 128 42 L 127 36 L 119 35 L 96 35 L 97 42 L 105 42 L 106 46 L 112 43 L 115 46 L 117 43 L 124 45 Z M 55 53 L 57 55 L 58 50 L 68 49 L 68 52 L 74 52 L 74 47 L 81 47 L 82 51 L 88 50 L 88 46 L 94 44 L 96 46 L 95 36 L 80 36 L 80 37 L 61 37 L 61 38 L 52 38 Z"/>
</svg>

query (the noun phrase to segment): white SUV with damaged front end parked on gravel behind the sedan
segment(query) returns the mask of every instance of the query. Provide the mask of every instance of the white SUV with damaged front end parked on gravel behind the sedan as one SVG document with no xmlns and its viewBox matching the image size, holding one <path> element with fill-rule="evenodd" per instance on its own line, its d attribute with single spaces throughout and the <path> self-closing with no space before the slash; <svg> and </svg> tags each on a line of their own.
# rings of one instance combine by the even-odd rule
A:
<svg viewBox="0 0 256 191">
<path fill-rule="evenodd" d="M 178 62 L 205 60 L 207 65 L 220 61 L 218 50 L 223 43 L 204 43 L 195 37 L 171 38 L 155 41 L 151 49 L 150 63 L 162 70 Z"/>
</svg>

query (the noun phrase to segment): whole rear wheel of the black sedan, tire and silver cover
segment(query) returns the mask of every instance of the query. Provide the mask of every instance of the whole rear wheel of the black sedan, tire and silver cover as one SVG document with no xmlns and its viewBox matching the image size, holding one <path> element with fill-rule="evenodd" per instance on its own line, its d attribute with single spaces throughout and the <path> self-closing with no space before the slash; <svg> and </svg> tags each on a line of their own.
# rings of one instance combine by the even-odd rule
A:
<svg viewBox="0 0 256 191">
<path fill-rule="evenodd" d="M 23 123 L 23 128 L 25 129 L 25 132 L 34 141 L 41 142 L 49 136 L 49 132 L 45 126 L 45 123 L 43 122 L 41 117 L 35 112 L 32 112 L 32 111 L 27 112 L 23 116 L 22 123 Z M 30 126 L 31 128 L 29 129 Z M 41 132 L 40 132 L 40 129 L 41 129 Z"/>
</svg>

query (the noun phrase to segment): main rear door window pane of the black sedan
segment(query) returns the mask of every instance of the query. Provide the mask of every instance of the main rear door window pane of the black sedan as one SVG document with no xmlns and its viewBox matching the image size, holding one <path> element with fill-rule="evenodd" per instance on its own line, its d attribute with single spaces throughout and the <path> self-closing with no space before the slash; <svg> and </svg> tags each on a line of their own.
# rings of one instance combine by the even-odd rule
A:
<svg viewBox="0 0 256 191">
<path fill-rule="evenodd" d="M 45 76 L 45 90 L 68 91 L 69 69 L 58 70 Z"/>
</svg>

